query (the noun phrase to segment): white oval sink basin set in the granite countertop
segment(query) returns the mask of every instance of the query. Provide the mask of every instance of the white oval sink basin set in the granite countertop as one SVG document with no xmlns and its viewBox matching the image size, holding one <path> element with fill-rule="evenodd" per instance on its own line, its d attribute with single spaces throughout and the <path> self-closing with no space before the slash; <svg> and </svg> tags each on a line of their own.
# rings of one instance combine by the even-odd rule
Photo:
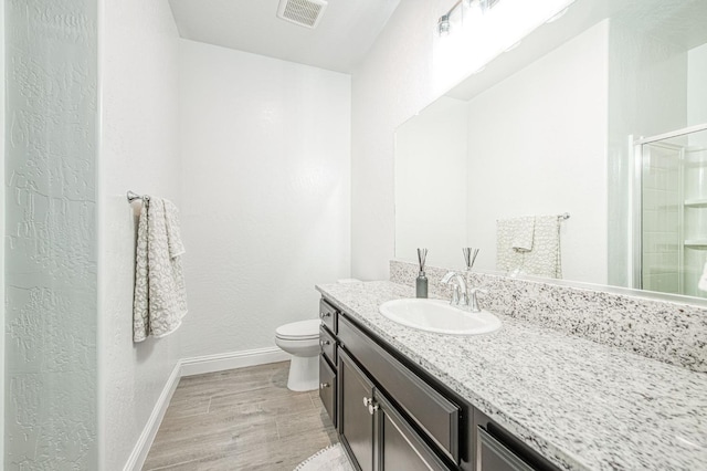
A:
<svg viewBox="0 0 707 471">
<path fill-rule="evenodd" d="M 500 328 L 500 320 L 488 311 L 471 313 L 441 300 L 394 300 L 378 310 L 398 324 L 440 334 L 478 335 Z"/>
</svg>

